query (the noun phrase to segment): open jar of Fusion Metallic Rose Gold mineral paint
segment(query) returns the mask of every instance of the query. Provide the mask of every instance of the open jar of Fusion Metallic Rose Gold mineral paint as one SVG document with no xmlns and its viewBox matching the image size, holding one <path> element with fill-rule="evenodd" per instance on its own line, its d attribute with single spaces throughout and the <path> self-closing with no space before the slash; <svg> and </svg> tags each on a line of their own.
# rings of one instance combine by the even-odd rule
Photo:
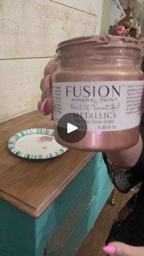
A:
<svg viewBox="0 0 144 256">
<path fill-rule="evenodd" d="M 86 150 L 122 150 L 139 137 L 144 74 L 138 68 L 140 44 L 130 37 L 91 36 L 57 46 L 53 75 L 54 136 L 63 146 Z M 55 91 L 59 88 L 59 96 Z M 58 120 L 78 113 L 87 133 L 77 143 L 57 133 Z"/>
</svg>

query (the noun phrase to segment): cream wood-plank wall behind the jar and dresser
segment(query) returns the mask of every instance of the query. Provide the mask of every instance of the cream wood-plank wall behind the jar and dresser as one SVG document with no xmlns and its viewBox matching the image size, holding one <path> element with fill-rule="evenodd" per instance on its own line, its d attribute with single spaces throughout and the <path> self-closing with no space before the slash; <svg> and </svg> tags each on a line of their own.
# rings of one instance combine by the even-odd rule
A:
<svg viewBox="0 0 144 256">
<path fill-rule="evenodd" d="M 0 122 L 36 109 L 56 45 L 95 34 L 99 0 L 0 0 Z"/>
</svg>

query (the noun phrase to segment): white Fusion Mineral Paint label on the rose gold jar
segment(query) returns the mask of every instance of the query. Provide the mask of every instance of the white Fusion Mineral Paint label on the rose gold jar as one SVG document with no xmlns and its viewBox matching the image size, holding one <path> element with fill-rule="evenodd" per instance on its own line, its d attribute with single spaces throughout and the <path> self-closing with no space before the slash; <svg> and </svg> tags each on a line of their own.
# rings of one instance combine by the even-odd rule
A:
<svg viewBox="0 0 144 256">
<path fill-rule="evenodd" d="M 143 81 L 54 82 L 54 123 L 74 112 L 88 131 L 134 128 L 140 124 L 143 86 Z"/>
</svg>

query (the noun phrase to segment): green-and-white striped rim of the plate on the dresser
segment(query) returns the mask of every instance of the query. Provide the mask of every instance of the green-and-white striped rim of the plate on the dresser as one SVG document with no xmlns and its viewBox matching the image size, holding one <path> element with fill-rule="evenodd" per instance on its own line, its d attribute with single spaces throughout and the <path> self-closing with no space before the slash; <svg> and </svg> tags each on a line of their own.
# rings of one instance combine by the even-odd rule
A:
<svg viewBox="0 0 144 256">
<path fill-rule="evenodd" d="M 47 159 L 47 158 L 52 158 L 52 157 L 55 157 L 55 156 L 58 156 L 58 155 L 62 155 L 68 149 L 65 146 L 62 146 L 58 151 L 55 151 L 52 154 L 49 153 L 49 154 L 46 154 L 46 155 L 31 155 L 31 154 L 20 152 L 19 150 L 17 150 L 15 148 L 15 143 L 19 138 L 27 136 L 27 135 L 31 135 L 31 134 L 45 135 L 45 132 L 46 132 L 46 135 L 50 135 L 50 136 L 54 137 L 54 130 L 53 129 L 31 128 L 31 129 L 20 131 L 20 132 L 16 133 L 15 135 L 13 135 L 9 139 L 9 141 L 8 141 L 9 150 L 13 154 L 24 157 L 24 158 L 27 158 L 27 159 Z"/>
</svg>

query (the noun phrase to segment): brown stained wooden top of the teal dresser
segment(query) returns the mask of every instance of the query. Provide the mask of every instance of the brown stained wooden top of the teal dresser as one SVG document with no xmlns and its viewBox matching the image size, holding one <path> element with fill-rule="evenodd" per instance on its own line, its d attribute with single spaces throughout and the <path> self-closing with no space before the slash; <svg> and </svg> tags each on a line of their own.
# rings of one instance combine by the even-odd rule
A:
<svg viewBox="0 0 144 256">
<path fill-rule="evenodd" d="M 36 110 L 0 124 L 0 198 L 38 218 L 96 153 L 68 149 L 52 159 L 18 157 L 8 140 L 28 128 L 53 128 L 53 121 Z"/>
</svg>

